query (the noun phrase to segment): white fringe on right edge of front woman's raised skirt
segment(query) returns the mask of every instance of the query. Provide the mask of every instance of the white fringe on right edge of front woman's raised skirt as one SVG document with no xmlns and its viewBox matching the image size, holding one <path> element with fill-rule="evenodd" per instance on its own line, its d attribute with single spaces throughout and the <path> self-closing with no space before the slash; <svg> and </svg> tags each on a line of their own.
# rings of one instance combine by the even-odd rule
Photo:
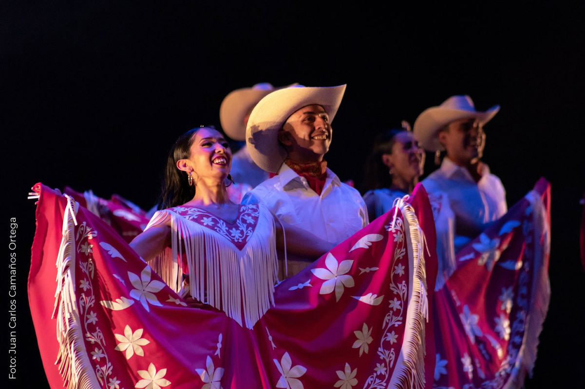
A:
<svg viewBox="0 0 585 389">
<path fill-rule="evenodd" d="M 405 240 L 408 242 L 408 261 L 412 265 L 412 288 L 409 291 L 407 324 L 404 343 L 398 356 L 396 372 L 393 375 L 394 387 L 423 389 L 425 387 L 425 322 L 428 321 L 428 299 L 426 297 L 426 268 L 424 251 L 425 235 L 418 224 L 412 206 L 407 203 L 408 196 L 397 199 L 396 209 L 400 209 L 405 227 Z M 394 214 L 394 220 L 397 211 Z M 399 366 L 399 364 L 401 366 Z M 394 378 L 395 377 L 395 378 Z"/>
</svg>

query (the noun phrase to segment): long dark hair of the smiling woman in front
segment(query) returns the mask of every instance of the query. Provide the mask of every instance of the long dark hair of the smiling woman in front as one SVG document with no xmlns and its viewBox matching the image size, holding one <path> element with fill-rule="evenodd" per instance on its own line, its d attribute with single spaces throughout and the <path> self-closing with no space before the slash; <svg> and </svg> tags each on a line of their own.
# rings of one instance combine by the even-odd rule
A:
<svg viewBox="0 0 585 389">
<path fill-rule="evenodd" d="M 191 156 L 191 145 L 193 144 L 194 135 L 201 128 L 214 127 L 192 128 L 181 135 L 168 152 L 167 165 L 163 172 L 160 188 L 159 209 L 183 205 L 195 196 L 195 185 L 189 185 L 188 174 L 177 168 L 177 161 Z"/>
</svg>

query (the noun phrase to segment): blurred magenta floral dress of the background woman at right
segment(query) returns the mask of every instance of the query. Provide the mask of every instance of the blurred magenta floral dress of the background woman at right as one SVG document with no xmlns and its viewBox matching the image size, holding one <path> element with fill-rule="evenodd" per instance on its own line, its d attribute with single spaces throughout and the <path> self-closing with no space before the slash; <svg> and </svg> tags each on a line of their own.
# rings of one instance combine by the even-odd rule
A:
<svg viewBox="0 0 585 389">
<path fill-rule="evenodd" d="M 431 176 L 436 179 L 441 173 Z M 422 182 L 425 189 L 431 187 L 429 182 L 429 179 Z M 504 193 L 503 188 L 498 193 Z M 364 199 L 381 213 L 402 194 L 377 189 L 364 194 Z M 484 215 L 492 215 L 497 221 L 475 239 L 462 237 L 467 244 L 456 252 L 450 271 L 445 258 L 449 252 L 455 252 L 456 214 L 450 209 L 446 193 L 428 196 L 435 217 L 439 259 L 433 296 L 436 348 L 433 387 L 522 387 L 523 373 L 534 366 L 550 294 L 549 183 L 541 179 L 534 190 L 503 215 L 500 213 L 505 208 L 505 199 L 494 201 L 495 207 L 480 207 L 487 208 Z M 455 209 L 463 209 L 463 205 Z M 449 239 L 450 249 L 446 244 Z M 448 271 L 443 278 L 441 269 Z"/>
</svg>

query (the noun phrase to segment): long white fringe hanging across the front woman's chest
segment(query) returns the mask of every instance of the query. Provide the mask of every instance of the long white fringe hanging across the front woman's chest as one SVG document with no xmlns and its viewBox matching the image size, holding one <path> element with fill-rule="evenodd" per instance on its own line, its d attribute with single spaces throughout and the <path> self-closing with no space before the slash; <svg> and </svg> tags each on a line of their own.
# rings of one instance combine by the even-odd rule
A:
<svg viewBox="0 0 585 389">
<path fill-rule="evenodd" d="M 162 214 L 166 214 L 166 216 Z M 256 231 L 240 252 L 218 232 L 164 210 L 160 220 L 171 218 L 171 249 L 152 262 L 152 267 L 171 289 L 222 310 L 240 326 L 252 329 L 274 305 L 278 262 L 274 219 L 260 207 Z M 156 224 L 151 220 L 149 225 Z M 260 231 L 266 229 L 266 231 Z M 266 233 L 264 233 L 266 232 Z M 189 284 L 181 288 L 183 247 Z"/>
</svg>

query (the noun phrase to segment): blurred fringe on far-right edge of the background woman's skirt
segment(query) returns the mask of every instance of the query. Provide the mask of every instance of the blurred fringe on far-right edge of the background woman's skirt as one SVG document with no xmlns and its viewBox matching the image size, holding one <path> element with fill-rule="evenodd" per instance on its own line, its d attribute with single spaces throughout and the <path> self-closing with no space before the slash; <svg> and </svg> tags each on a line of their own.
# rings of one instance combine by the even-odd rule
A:
<svg viewBox="0 0 585 389">
<path fill-rule="evenodd" d="M 524 377 L 528 373 L 532 377 L 532 369 L 536 362 L 538 336 L 542 332 L 550 302 L 550 282 L 548 277 L 548 258 L 550 253 L 550 225 L 546 218 L 546 208 L 539 193 L 531 190 L 524 196 L 532 206 L 534 230 L 532 244 L 534 245 L 534 265 L 531 298 L 526 316 L 526 328 L 522 347 L 503 389 L 524 387 Z"/>
</svg>

